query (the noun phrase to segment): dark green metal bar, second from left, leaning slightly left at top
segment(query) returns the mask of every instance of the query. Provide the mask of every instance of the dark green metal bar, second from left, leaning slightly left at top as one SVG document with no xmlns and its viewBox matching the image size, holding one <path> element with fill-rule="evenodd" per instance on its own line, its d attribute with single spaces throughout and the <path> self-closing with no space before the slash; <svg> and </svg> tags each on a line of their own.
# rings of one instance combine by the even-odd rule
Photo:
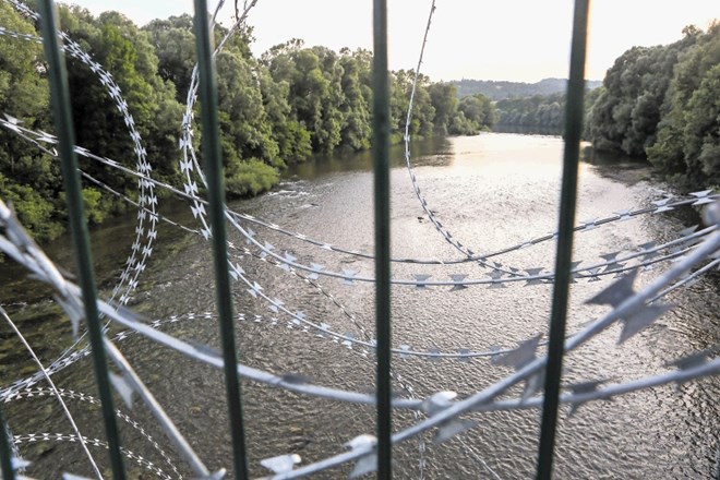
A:
<svg viewBox="0 0 720 480">
<path fill-rule="evenodd" d="M 215 65 L 211 47 L 207 1 L 195 0 L 195 48 L 200 72 L 200 103 L 203 124 L 203 157 L 207 177 L 207 200 L 213 229 L 213 256 L 215 264 L 215 288 L 220 324 L 220 341 L 225 361 L 225 383 L 230 415 L 230 434 L 235 458 L 235 476 L 248 478 L 248 455 L 245 447 L 242 404 L 240 401 L 240 381 L 237 372 L 235 346 L 235 323 L 232 315 L 232 296 L 228 273 L 227 235 L 225 230 L 225 181 L 223 179 L 223 158 L 217 112 L 217 88 L 215 86 Z"/>
</svg>

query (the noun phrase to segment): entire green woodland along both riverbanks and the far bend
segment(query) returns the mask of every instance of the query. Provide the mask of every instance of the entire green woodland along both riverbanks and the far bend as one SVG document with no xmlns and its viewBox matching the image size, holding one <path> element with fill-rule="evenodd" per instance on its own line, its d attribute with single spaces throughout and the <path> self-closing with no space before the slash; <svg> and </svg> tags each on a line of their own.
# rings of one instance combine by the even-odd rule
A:
<svg viewBox="0 0 720 480">
<path fill-rule="evenodd" d="M 63 31 L 111 73 L 122 91 L 153 177 L 180 184 L 178 139 L 195 64 L 192 17 L 171 16 L 139 27 L 117 12 L 94 16 L 62 4 L 59 15 Z M 38 35 L 32 19 L 4 2 L 0 26 Z M 226 32 L 216 26 L 217 40 Z M 19 119 L 25 128 L 52 132 L 41 45 L 17 36 L 1 38 L 0 115 Z M 269 190 L 284 168 L 315 153 L 370 148 L 370 51 L 333 51 L 291 39 L 257 58 L 252 41 L 252 28 L 244 27 L 216 57 L 229 197 Z M 133 140 L 97 72 L 70 56 L 67 62 L 77 145 L 134 169 Z M 411 70 L 391 72 L 396 143 L 405 134 L 413 79 Z M 413 139 L 472 135 L 495 123 L 561 129 L 565 97 L 556 91 L 564 82 L 442 83 L 421 74 L 409 133 Z M 707 33 L 688 26 L 683 38 L 668 46 L 633 47 L 608 70 L 602 86 L 595 85 L 588 83 L 585 136 L 596 148 L 647 157 L 683 190 L 720 184 L 719 24 Z M 482 88 L 500 88 L 504 96 L 491 97 Z M 544 94 L 543 88 L 553 92 Z M 533 94 L 519 96 L 526 91 Z M 194 136 L 195 146 L 201 136 Z M 0 144 L 0 197 L 12 203 L 39 241 L 62 233 L 67 221 L 58 160 L 4 129 Z M 81 161 L 97 181 L 136 197 L 136 179 L 86 158 Z M 128 208 L 124 200 L 97 184 L 86 183 L 83 195 L 91 224 Z"/>
</svg>

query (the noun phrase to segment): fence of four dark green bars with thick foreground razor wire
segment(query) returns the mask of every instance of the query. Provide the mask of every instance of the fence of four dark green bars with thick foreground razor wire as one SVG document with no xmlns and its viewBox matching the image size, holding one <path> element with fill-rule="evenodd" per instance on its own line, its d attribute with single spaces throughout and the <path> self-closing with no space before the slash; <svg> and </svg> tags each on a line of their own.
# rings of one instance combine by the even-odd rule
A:
<svg viewBox="0 0 720 480">
<path fill-rule="evenodd" d="M 245 2 L 248 3 L 248 2 Z M 245 4 L 245 13 L 252 8 L 254 2 Z M 434 8 L 434 5 L 433 5 Z M 224 180 L 220 158 L 218 111 L 217 111 L 217 91 L 215 88 L 213 50 L 211 48 L 211 27 L 212 25 L 205 19 L 206 2 L 195 0 L 195 35 L 196 52 L 199 65 L 199 83 L 193 81 L 194 87 L 191 87 L 189 99 L 192 98 L 194 88 L 199 89 L 202 106 L 202 128 L 203 128 L 203 157 L 205 159 L 205 176 L 207 180 L 207 202 L 202 202 L 191 190 L 191 200 L 199 212 L 204 212 L 205 205 L 209 212 L 209 226 L 205 224 L 205 237 L 212 240 L 215 265 L 215 288 L 217 292 L 217 304 L 219 314 L 220 338 L 223 344 L 223 355 L 220 358 L 213 357 L 203 352 L 191 345 L 153 331 L 147 325 L 140 322 L 133 314 L 124 309 L 118 309 L 109 303 L 98 301 L 92 260 L 89 257 L 88 232 L 83 213 L 83 202 L 80 189 L 80 173 L 77 168 L 74 133 L 71 119 L 70 97 L 68 88 L 67 73 L 62 58 L 62 49 L 72 53 L 69 45 L 62 47 L 59 44 L 57 32 L 57 21 L 55 17 L 53 2 L 51 0 L 38 1 L 39 22 L 43 32 L 43 44 L 47 63 L 49 64 L 49 79 L 51 86 L 52 111 L 58 132 L 58 145 L 60 157 L 62 158 L 62 173 L 68 199 L 70 226 L 74 242 L 74 252 L 80 272 L 80 287 L 72 285 L 60 275 L 52 264 L 35 247 L 32 239 L 26 237 L 22 228 L 13 219 L 11 212 L 2 205 L 0 212 L 0 221 L 5 231 L 0 247 L 9 255 L 24 263 L 33 269 L 38 277 L 51 284 L 57 292 L 60 303 L 71 316 L 73 324 L 77 325 L 81 319 L 85 319 L 87 333 L 92 344 L 92 356 L 95 367 L 95 377 L 101 399 L 103 418 L 105 421 L 105 431 L 110 457 L 110 465 L 113 478 L 127 478 L 125 466 L 123 464 L 123 452 L 121 449 L 121 440 L 117 424 L 116 407 L 113 405 L 111 388 L 115 385 L 123 395 L 137 393 L 146 403 L 148 408 L 155 415 L 157 421 L 163 425 L 168 436 L 178 449 L 179 455 L 188 461 L 193 471 L 200 478 L 221 478 L 223 472 L 212 473 L 203 461 L 194 454 L 192 447 L 182 437 L 180 432 L 175 429 L 170 419 L 164 413 L 163 408 L 152 397 L 152 394 L 144 387 L 142 380 L 134 375 L 132 369 L 123 361 L 122 355 L 115 348 L 104 334 L 100 315 L 106 315 L 115 322 L 125 325 L 142 335 L 145 335 L 163 345 L 177 349 L 188 356 L 199 359 L 225 371 L 227 387 L 227 404 L 230 422 L 231 437 L 233 444 L 233 469 L 236 476 L 240 479 L 248 478 L 248 446 L 245 445 L 245 434 L 243 428 L 242 393 L 240 389 L 239 376 L 249 376 L 259 381 L 276 383 L 280 386 L 302 392 L 311 395 L 326 396 L 329 398 L 345 401 L 372 403 L 377 408 L 377 430 L 376 439 L 371 436 L 359 436 L 349 443 L 350 451 L 345 454 L 329 457 L 326 460 L 319 461 L 305 467 L 295 468 L 298 463 L 297 456 L 287 455 L 263 460 L 263 465 L 274 471 L 276 478 L 296 478 L 321 471 L 332 466 L 341 465 L 348 461 L 357 461 L 353 476 L 377 470 L 377 477 L 388 479 L 392 477 L 393 464 L 392 453 L 393 444 L 403 442 L 428 431 L 433 428 L 440 428 L 441 436 L 455 436 L 461 433 L 469 423 L 461 422 L 459 416 L 467 411 L 478 409 L 482 406 L 491 405 L 492 399 L 500 393 L 506 391 L 512 385 L 540 379 L 544 376 L 544 396 L 533 405 L 542 404 L 542 427 L 540 432 L 540 443 L 538 452 L 537 478 L 549 479 L 552 477 L 554 436 L 556 430 L 556 419 L 560 403 L 561 389 L 561 370 L 563 365 L 563 355 L 565 351 L 573 350 L 577 346 L 587 341 L 597 335 L 605 326 L 623 319 L 624 335 L 629 336 L 650 324 L 657 316 L 667 310 L 665 305 L 650 305 L 648 302 L 661 295 L 668 285 L 673 281 L 686 281 L 683 278 L 685 272 L 697 263 L 711 259 L 720 245 L 720 233 L 717 231 L 718 212 L 709 215 L 711 226 L 704 231 L 706 239 L 699 245 L 675 263 L 653 284 L 638 293 L 632 289 L 633 276 L 624 277 L 603 290 L 596 298 L 591 299 L 595 303 L 611 304 L 613 311 L 590 325 L 576 336 L 565 339 L 566 336 L 566 311 L 569 284 L 577 277 L 577 271 L 572 263 L 573 237 L 574 231 L 583 227 L 575 226 L 576 192 L 577 192 L 577 171 L 579 158 L 579 144 L 583 125 L 583 96 L 584 96 L 584 69 L 587 37 L 588 20 L 588 0 L 576 0 L 575 17 L 572 40 L 572 57 L 569 64 L 569 82 L 567 87 L 567 109 L 566 109 L 566 131 L 565 131 L 565 152 L 563 161 L 562 178 L 562 197 L 557 228 L 557 254 L 554 267 L 553 300 L 552 313 L 550 320 L 550 333 L 547 358 L 529 359 L 519 361 L 512 358 L 512 351 L 505 358 L 506 364 L 513 365 L 517 371 L 508 375 L 503 381 L 479 392 L 460 401 L 451 401 L 452 396 L 439 393 L 424 401 L 399 400 L 392 397 L 391 379 L 391 357 L 392 348 L 392 322 L 391 322 L 391 250 L 389 250 L 389 94 L 388 94 L 388 72 L 387 72 L 387 20 L 386 1 L 374 1 L 374 73 L 373 73 L 373 159 L 374 159 L 374 205 L 375 205 L 375 278 L 376 278 L 376 311 L 375 329 L 376 344 L 370 347 L 376 352 L 376 396 L 353 394 L 347 392 L 332 391 L 329 388 L 315 387 L 308 384 L 298 384 L 288 380 L 263 376 L 262 372 L 254 372 L 252 369 L 243 368 L 238 364 L 236 351 L 236 333 L 233 322 L 233 307 L 231 297 L 231 278 L 242 277 L 242 271 L 233 266 L 228 259 L 226 223 L 230 221 L 237 226 L 238 217 L 228 213 L 225 207 Z M 244 16 L 244 15 L 243 15 Z M 194 101 L 194 100 L 193 100 Z M 192 101 L 189 101 L 192 105 Z M 189 107 L 192 112 L 192 106 Z M 8 123 L 8 122 L 5 122 Z M 16 127 L 20 131 L 20 127 Z M 27 132 L 26 132 L 27 133 Z M 184 144 L 191 143 L 184 139 Z M 406 139 L 406 141 L 409 141 Z M 84 153 L 89 155 L 88 153 Z M 185 163 L 194 161 L 194 154 L 191 157 L 185 153 Z M 140 176 L 141 180 L 146 177 Z M 188 193 L 185 187 L 185 193 Z M 180 192 L 182 193 L 182 192 Z M 196 193 L 196 189 L 195 192 Z M 677 204 L 706 204 L 711 203 L 715 196 L 710 192 L 698 192 L 689 200 L 683 200 Z M 142 202 L 141 202 L 142 203 Z M 151 202 L 152 203 L 152 202 Z M 664 202 L 657 208 L 668 207 Z M 718 205 L 715 205 L 717 207 Z M 650 209 L 652 211 L 652 209 Z M 155 221 L 158 216 L 155 212 L 149 213 Z M 625 214 L 629 216 L 629 213 Z M 712 224 L 712 221 L 715 224 Z M 595 225 L 595 224 L 593 224 Z M 586 226 L 587 227 L 587 226 Z M 238 227 L 240 228 L 240 227 Z M 243 230 L 244 231 L 244 230 Z M 249 233 L 250 235 L 250 233 Z M 251 238 L 251 235 L 250 237 Z M 695 239 L 694 233 L 689 232 L 683 237 L 682 242 L 688 239 Z M 265 250 L 269 253 L 269 250 Z M 650 249 L 648 248 L 648 251 Z M 652 252 L 651 252 L 652 253 Z M 287 265 L 295 266 L 295 259 L 281 259 Z M 485 262 L 484 259 L 476 259 Z M 717 260 L 709 264 L 710 267 L 717 265 Z M 706 266 L 705 269 L 708 269 Z M 315 272 L 319 272 L 316 268 Z M 311 271 L 312 272 L 312 271 Z M 701 273 L 701 272 L 700 272 Z M 530 273 L 529 276 L 521 277 L 525 280 L 532 280 L 542 277 L 539 272 Z M 597 272 L 596 272 L 597 274 Z M 340 275 L 340 277 L 343 277 Z M 351 279 L 351 278 L 350 278 Z M 465 286 L 467 281 L 463 278 L 455 279 L 456 286 Z M 424 279 L 420 279 L 416 285 L 425 285 Z M 252 287 L 255 293 L 259 288 Z M 346 338 L 345 340 L 351 341 Z M 533 351 L 537 346 L 530 340 L 529 344 L 521 346 L 515 353 L 523 353 L 527 357 L 529 350 Z M 645 388 L 651 385 L 669 382 L 681 382 L 701 375 L 717 374 L 720 371 L 720 361 L 711 360 L 711 353 L 705 353 L 695 358 L 664 375 L 647 379 L 633 385 L 619 386 L 615 389 L 598 388 L 598 385 L 588 386 L 586 389 L 577 389 L 565 401 L 576 404 L 587 401 L 588 399 L 608 398 L 624 391 Z M 108 358 L 123 372 L 123 377 L 113 377 L 108 371 Z M 544 374 L 543 374 L 544 372 Z M 539 385 L 538 385 L 539 386 Z M 624 388 L 624 389 L 623 389 Z M 332 391 L 332 392 L 331 392 Z M 526 399 L 516 406 L 520 406 Z M 416 425 L 393 433 L 392 432 L 392 411 L 393 408 L 411 408 L 430 413 L 430 416 L 419 421 Z M 1 413 L 1 411 L 0 411 Z M 13 454 L 12 445 L 9 442 L 8 432 L 4 428 L 4 420 L 0 419 L 2 432 L 0 432 L 0 459 L 2 460 L 2 478 L 17 478 L 16 470 L 22 468 L 16 456 Z M 81 435 L 79 434 L 79 437 Z M 81 437 L 81 443 L 82 437 Z M 97 466 L 96 473 L 101 477 Z M 68 478 L 72 478 L 69 476 Z"/>
</svg>

